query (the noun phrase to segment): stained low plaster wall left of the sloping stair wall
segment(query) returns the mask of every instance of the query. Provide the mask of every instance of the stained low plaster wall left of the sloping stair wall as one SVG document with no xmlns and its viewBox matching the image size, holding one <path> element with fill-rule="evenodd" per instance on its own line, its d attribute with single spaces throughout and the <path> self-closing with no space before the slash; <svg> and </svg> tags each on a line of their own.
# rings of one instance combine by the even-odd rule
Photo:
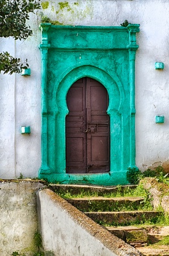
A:
<svg viewBox="0 0 169 256">
<path fill-rule="evenodd" d="M 41 187 L 36 181 L 1 181 L 0 255 L 37 252 L 33 236 L 37 232 L 36 192 Z"/>
</svg>

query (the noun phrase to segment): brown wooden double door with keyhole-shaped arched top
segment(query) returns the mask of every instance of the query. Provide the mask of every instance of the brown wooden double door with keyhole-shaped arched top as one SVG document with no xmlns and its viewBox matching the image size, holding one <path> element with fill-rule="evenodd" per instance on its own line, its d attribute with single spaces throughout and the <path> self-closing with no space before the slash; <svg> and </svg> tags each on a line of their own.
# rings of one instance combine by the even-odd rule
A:
<svg viewBox="0 0 169 256">
<path fill-rule="evenodd" d="M 107 90 L 100 82 L 83 77 L 71 86 L 66 100 L 66 172 L 108 172 Z"/>
</svg>

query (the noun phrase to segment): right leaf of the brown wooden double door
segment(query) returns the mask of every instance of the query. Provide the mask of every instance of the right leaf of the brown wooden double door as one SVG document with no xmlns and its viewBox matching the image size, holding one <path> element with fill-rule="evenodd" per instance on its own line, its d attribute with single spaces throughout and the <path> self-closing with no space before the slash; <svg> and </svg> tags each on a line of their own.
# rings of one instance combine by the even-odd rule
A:
<svg viewBox="0 0 169 256">
<path fill-rule="evenodd" d="M 87 77 L 87 172 L 109 171 L 108 93 L 100 82 Z M 103 129 L 105 131 L 103 131 Z"/>
</svg>

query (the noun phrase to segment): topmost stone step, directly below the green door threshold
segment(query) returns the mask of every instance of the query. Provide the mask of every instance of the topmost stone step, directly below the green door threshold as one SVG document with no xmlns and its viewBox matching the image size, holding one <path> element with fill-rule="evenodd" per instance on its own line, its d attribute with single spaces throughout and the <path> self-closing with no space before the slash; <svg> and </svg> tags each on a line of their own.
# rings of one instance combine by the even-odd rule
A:
<svg viewBox="0 0 169 256">
<path fill-rule="evenodd" d="M 97 185 L 70 185 L 70 184 L 49 184 L 49 188 L 59 194 L 69 192 L 71 195 L 84 193 L 97 193 L 98 196 L 109 195 L 110 193 L 122 192 L 124 189 L 134 189 L 137 185 L 124 186 L 97 186 Z"/>
</svg>

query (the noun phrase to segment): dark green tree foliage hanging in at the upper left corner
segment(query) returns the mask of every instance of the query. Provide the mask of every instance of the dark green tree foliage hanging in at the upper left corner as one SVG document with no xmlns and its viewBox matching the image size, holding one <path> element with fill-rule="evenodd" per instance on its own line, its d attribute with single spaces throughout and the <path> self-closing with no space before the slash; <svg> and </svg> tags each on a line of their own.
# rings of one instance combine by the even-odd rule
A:
<svg viewBox="0 0 169 256">
<path fill-rule="evenodd" d="M 1 0 L 0 1 L 0 37 L 12 36 L 15 40 L 27 39 L 32 35 L 32 30 L 26 21 L 29 13 L 40 9 L 40 0 Z M 8 52 L 0 53 L 0 72 L 20 73 L 20 69 L 27 68 L 20 63 L 19 58 L 12 57 Z"/>
</svg>

